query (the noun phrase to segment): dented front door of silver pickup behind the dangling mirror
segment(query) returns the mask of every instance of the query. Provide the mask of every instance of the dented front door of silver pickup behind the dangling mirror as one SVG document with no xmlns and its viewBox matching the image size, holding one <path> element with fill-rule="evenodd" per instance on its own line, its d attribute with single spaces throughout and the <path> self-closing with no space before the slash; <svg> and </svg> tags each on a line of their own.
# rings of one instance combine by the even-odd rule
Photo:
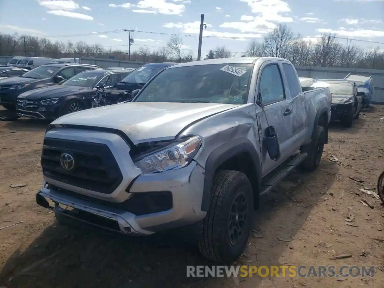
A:
<svg viewBox="0 0 384 288">
<path fill-rule="evenodd" d="M 258 109 L 258 129 L 261 139 L 265 137 L 265 129 L 274 126 L 280 143 L 281 156 L 278 161 L 273 161 L 268 155 L 265 141 L 261 141 L 261 161 L 263 175 L 268 174 L 278 164 L 290 157 L 294 151 L 291 147 L 292 138 L 292 103 L 286 97 L 284 82 L 280 66 L 275 61 L 265 63 L 260 70 L 257 97 L 261 98 L 263 109 Z M 289 94 L 288 94 L 289 95 Z"/>
</svg>

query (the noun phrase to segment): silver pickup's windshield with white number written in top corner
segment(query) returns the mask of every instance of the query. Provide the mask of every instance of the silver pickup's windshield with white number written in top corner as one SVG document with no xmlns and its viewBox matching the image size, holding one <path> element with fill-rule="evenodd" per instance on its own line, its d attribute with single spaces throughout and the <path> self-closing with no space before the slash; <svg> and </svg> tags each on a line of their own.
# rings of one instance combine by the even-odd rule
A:
<svg viewBox="0 0 384 288">
<path fill-rule="evenodd" d="M 169 68 L 156 76 L 135 102 L 244 104 L 252 67 L 242 63 Z"/>
</svg>

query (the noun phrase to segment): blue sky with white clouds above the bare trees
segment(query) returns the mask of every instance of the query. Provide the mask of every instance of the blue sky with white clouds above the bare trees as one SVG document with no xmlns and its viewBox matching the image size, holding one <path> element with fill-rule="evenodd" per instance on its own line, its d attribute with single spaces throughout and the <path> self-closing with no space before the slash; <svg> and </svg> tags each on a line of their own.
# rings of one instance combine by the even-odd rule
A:
<svg viewBox="0 0 384 288">
<path fill-rule="evenodd" d="M 193 50 L 196 56 L 202 13 L 207 24 L 203 35 L 209 36 L 203 39 L 202 56 L 218 45 L 241 53 L 249 38 L 262 37 L 279 23 L 303 37 L 331 31 L 339 37 L 384 42 L 384 0 L 0 0 L 0 32 L 83 40 L 121 50 L 127 49 L 124 29 L 188 34 L 192 36 L 181 37 L 184 51 Z M 170 38 L 144 32 L 133 37 L 133 50 L 156 50 Z M 382 44 L 356 44 L 384 49 Z"/>
</svg>

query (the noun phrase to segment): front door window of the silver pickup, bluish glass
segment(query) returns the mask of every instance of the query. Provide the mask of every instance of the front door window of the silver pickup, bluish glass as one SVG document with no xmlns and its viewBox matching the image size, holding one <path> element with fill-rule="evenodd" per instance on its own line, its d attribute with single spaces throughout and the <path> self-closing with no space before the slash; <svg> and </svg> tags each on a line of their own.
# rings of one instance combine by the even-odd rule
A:
<svg viewBox="0 0 384 288">
<path fill-rule="evenodd" d="M 263 105 L 285 99 L 283 79 L 277 64 L 268 65 L 263 69 L 259 89 Z"/>
</svg>

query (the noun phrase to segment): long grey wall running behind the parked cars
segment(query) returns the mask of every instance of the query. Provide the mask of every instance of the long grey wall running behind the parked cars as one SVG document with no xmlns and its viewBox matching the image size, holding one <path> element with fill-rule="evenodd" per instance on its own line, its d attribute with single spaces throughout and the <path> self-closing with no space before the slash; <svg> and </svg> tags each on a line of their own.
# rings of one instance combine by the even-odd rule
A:
<svg viewBox="0 0 384 288">
<path fill-rule="evenodd" d="M 0 64 L 6 64 L 13 56 L 0 56 Z M 98 65 L 101 68 L 108 67 L 126 67 L 137 68 L 142 63 L 111 60 L 104 58 L 83 57 L 80 58 L 80 63 Z M 337 68 L 337 67 L 310 67 L 310 66 L 296 66 L 296 70 L 300 77 L 311 78 L 336 78 L 343 79 L 348 73 L 372 76 L 374 85 L 374 95 L 372 102 L 384 104 L 384 70 L 373 69 L 357 69 L 357 68 Z"/>
</svg>

